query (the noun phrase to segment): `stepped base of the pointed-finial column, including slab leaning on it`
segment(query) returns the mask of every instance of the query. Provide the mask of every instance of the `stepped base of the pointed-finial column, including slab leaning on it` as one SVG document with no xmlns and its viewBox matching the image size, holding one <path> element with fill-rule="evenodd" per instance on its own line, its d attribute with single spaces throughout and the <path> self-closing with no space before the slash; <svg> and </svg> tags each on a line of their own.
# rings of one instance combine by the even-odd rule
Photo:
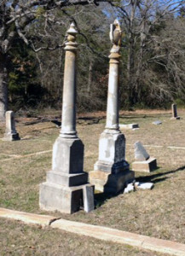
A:
<svg viewBox="0 0 185 256">
<path fill-rule="evenodd" d="M 94 186 L 83 172 L 84 144 L 77 137 L 58 137 L 53 148 L 52 170 L 40 184 L 39 205 L 46 211 L 85 212 L 94 209 Z"/>
</svg>

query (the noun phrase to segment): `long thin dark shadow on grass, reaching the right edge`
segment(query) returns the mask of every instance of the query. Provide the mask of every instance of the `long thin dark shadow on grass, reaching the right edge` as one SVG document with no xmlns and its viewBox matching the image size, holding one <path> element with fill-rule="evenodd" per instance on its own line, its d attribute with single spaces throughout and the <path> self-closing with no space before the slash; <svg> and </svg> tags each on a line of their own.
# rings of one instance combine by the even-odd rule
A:
<svg viewBox="0 0 185 256">
<path fill-rule="evenodd" d="M 148 183 L 148 182 L 160 183 L 160 182 L 163 182 L 166 179 L 170 178 L 170 177 L 165 177 L 166 175 L 171 174 L 171 173 L 175 173 L 175 172 L 181 172 L 181 171 L 185 171 L 185 166 L 181 166 L 181 167 L 179 167 L 175 170 L 171 170 L 171 171 L 168 171 L 168 172 L 160 172 L 160 173 L 156 173 L 156 174 L 153 174 L 153 175 L 136 177 L 136 181 L 142 182 L 142 183 Z"/>
</svg>

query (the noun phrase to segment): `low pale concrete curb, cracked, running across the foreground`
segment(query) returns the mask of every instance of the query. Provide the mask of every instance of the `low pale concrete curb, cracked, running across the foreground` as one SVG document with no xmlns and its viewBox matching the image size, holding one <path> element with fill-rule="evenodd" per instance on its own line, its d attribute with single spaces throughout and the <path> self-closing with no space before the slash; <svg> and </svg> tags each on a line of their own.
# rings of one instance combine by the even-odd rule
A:
<svg viewBox="0 0 185 256">
<path fill-rule="evenodd" d="M 154 252 L 169 253 L 178 256 L 185 255 L 185 245 L 175 241 L 166 241 L 121 230 L 113 230 L 106 227 L 59 219 L 49 215 L 39 215 L 0 208 L 0 218 L 16 219 L 26 224 L 50 225 L 52 228 L 66 230 L 78 235 L 140 247 L 141 249 L 148 249 Z"/>
</svg>

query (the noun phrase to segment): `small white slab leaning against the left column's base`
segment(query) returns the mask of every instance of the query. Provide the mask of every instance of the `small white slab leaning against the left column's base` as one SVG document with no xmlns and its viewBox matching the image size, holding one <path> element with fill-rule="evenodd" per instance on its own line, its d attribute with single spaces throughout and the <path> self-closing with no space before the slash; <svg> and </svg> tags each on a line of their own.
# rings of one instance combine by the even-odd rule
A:
<svg viewBox="0 0 185 256">
<path fill-rule="evenodd" d="M 83 188 L 84 212 L 91 212 L 95 209 L 94 187 L 84 186 Z"/>
</svg>

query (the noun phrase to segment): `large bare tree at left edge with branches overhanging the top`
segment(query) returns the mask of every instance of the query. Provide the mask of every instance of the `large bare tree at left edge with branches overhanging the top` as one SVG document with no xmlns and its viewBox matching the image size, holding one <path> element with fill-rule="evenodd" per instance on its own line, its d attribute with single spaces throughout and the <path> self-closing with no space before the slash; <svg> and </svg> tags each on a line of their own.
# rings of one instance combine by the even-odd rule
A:
<svg viewBox="0 0 185 256">
<path fill-rule="evenodd" d="M 32 47 L 36 52 L 41 49 L 57 49 L 63 46 L 62 40 L 56 42 L 55 37 L 49 38 L 55 33 L 52 26 L 65 26 L 59 18 L 55 19 L 55 9 L 65 13 L 70 7 L 98 5 L 99 2 L 108 0 L 2 0 L 0 3 L 0 119 L 4 119 L 4 113 L 8 108 L 8 62 L 9 50 L 14 46 L 14 40 L 22 41 Z M 43 34 L 30 36 L 29 29 L 39 26 L 39 19 L 43 19 Z M 64 38 L 63 38 L 64 39 Z"/>
</svg>

